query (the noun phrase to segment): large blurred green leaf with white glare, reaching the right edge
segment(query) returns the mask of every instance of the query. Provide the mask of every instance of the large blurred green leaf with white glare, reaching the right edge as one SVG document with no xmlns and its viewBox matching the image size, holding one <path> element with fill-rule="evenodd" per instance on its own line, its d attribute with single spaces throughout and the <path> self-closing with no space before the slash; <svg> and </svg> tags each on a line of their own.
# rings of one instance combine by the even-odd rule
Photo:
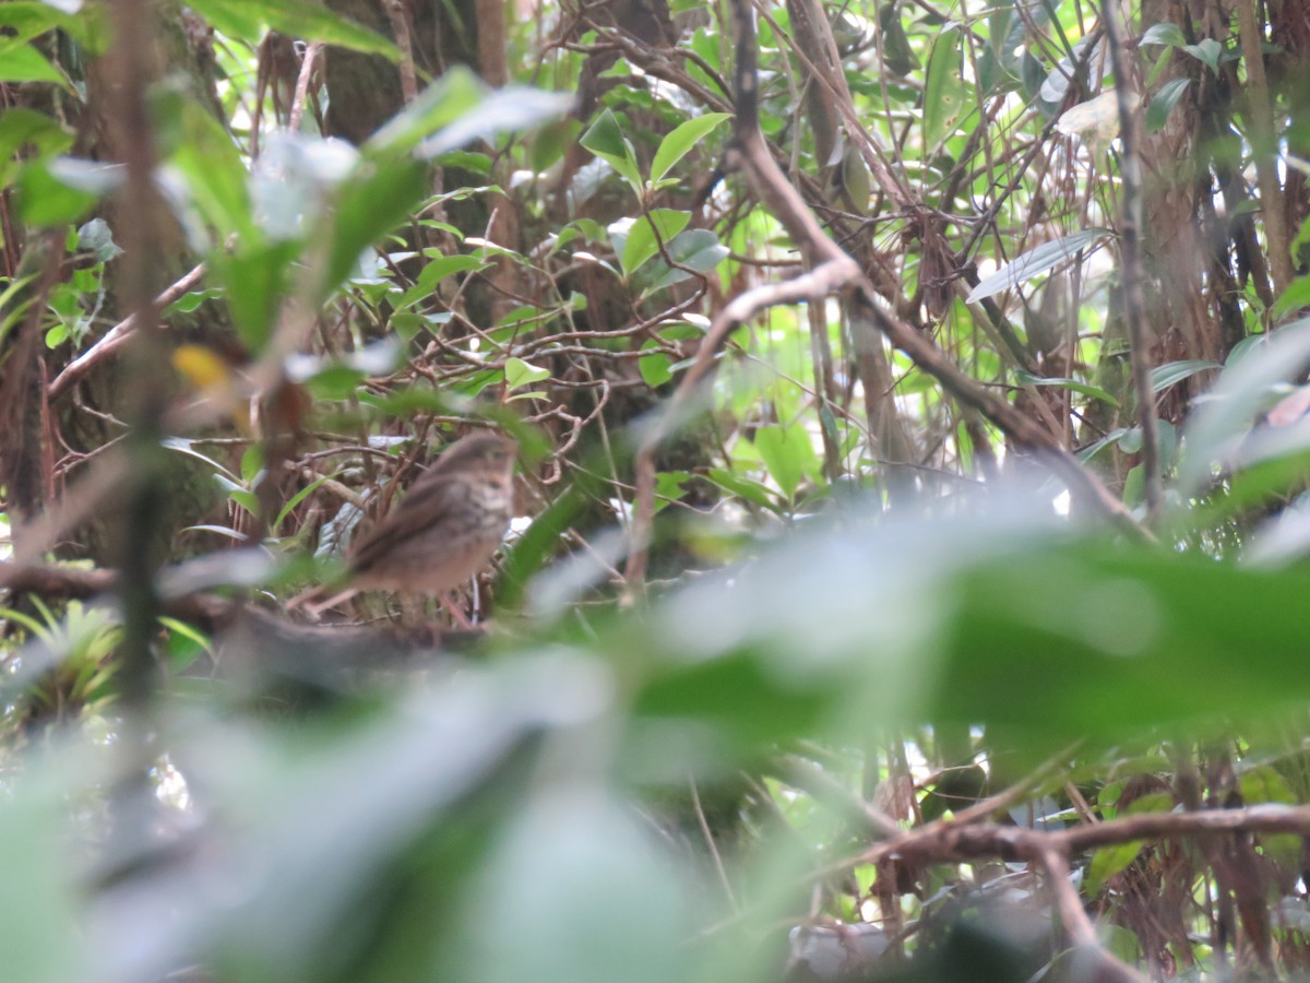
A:
<svg viewBox="0 0 1310 983">
<path fill-rule="evenodd" d="M 1013 511 L 850 515 L 662 608 L 639 708 L 753 741 L 921 720 L 1068 739 L 1259 718 L 1310 700 L 1310 577 L 1076 539 Z M 876 723 L 874 723 L 876 722 Z"/>
</svg>

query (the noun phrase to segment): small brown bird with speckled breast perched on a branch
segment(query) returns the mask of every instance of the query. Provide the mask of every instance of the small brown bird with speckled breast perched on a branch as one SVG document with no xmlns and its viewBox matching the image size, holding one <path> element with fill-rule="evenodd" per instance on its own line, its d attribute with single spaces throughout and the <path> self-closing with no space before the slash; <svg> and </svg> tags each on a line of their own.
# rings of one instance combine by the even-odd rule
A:
<svg viewBox="0 0 1310 983">
<path fill-rule="evenodd" d="M 469 628 L 449 592 L 490 562 L 510 528 L 517 450 L 491 433 L 452 443 L 401 503 L 351 544 L 350 587 L 307 609 L 317 615 L 364 590 L 427 594 Z"/>
</svg>

